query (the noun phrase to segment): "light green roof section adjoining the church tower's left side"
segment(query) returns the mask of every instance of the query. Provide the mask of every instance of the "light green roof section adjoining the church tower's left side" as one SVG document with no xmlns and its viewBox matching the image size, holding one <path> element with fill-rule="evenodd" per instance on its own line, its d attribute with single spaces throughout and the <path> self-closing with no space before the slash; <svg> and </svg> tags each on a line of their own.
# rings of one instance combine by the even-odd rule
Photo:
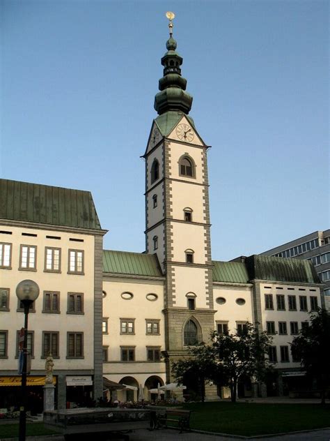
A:
<svg viewBox="0 0 330 441">
<path fill-rule="evenodd" d="M 103 251 L 103 272 L 132 276 L 163 276 L 155 254 L 112 250 Z"/>
</svg>

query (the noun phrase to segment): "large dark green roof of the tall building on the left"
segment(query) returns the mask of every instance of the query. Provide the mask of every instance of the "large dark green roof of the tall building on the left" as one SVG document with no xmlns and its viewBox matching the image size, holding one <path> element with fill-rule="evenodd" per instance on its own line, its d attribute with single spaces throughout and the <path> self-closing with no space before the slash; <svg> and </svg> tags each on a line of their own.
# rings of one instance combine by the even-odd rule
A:
<svg viewBox="0 0 330 441">
<path fill-rule="evenodd" d="M 0 218 L 100 230 L 89 191 L 0 179 Z"/>
</svg>

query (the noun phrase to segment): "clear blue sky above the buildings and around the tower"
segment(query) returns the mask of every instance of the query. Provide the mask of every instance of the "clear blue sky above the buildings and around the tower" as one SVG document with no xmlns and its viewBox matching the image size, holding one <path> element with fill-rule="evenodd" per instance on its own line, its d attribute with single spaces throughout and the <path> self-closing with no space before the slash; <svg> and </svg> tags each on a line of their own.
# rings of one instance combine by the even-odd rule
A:
<svg viewBox="0 0 330 441">
<path fill-rule="evenodd" d="M 144 250 L 166 10 L 209 150 L 212 257 L 329 228 L 329 2 L 0 1 L 1 177 L 91 190 Z"/>
</svg>

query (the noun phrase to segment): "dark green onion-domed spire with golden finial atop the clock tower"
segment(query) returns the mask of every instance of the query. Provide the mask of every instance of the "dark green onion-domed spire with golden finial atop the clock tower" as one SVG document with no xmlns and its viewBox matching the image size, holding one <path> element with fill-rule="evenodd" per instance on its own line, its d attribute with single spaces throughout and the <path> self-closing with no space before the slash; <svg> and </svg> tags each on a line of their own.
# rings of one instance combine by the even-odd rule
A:
<svg viewBox="0 0 330 441">
<path fill-rule="evenodd" d="M 189 114 L 193 98 L 185 91 L 187 80 L 181 76 L 182 57 L 176 52 L 177 43 L 173 38 L 172 20 L 175 15 L 168 12 L 166 17 L 169 20 L 170 38 L 166 41 L 167 52 L 162 57 L 164 76 L 159 80 L 160 92 L 155 96 L 154 107 L 159 115 L 168 110 L 180 110 Z"/>
</svg>

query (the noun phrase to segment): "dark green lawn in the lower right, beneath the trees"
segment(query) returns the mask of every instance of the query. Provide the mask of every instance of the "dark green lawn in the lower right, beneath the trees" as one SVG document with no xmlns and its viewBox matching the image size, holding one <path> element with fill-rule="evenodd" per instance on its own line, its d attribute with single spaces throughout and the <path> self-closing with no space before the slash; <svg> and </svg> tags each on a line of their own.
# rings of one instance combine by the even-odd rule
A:
<svg viewBox="0 0 330 441">
<path fill-rule="evenodd" d="M 330 426 L 330 405 L 187 403 L 191 428 L 233 435 L 265 435 Z"/>
</svg>

